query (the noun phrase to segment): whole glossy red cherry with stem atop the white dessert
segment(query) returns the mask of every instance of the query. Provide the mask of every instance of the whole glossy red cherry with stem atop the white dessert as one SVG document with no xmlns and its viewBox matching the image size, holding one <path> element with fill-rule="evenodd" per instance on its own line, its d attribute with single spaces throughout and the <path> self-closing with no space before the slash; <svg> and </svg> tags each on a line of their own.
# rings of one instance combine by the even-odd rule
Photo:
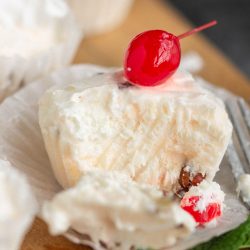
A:
<svg viewBox="0 0 250 250">
<path fill-rule="evenodd" d="M 141 86 L 163 83 L 180 64 L 180 39 L 216 24 L 214 20 L 179 36 L 164 30 L 148 30 L 137 35 L 125 54 L 125 77 L 130 83 Z"/>
</svg>

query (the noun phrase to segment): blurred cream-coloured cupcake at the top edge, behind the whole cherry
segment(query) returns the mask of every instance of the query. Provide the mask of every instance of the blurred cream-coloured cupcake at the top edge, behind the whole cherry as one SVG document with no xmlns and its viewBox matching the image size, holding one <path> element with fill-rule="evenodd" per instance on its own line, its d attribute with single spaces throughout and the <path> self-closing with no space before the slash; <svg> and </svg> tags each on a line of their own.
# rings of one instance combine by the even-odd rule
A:
<svg viewBox="0 0 250 250">
<path fill-rule="evenodd" d="M 85 35 L 117 27 L 127 16 L 133 0 L 67 0 Z"/>
</svg>

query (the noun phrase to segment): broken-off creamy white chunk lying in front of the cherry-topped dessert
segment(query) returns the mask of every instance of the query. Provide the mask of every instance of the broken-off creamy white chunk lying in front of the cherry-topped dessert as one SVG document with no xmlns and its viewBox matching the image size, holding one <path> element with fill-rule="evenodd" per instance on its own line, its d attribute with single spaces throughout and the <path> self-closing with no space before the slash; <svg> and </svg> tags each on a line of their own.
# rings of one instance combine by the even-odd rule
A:
<svg viewBox="0 0 250 250">
<path fill-rule="evenodd" d="M 195 228 L 192 217 L 170 197 L 117 172 L 92 170 L 73 188 L 47 202 L 43 218 L 52 234 L 70 228 L 89 235 L 95 249 L 173 245 Z M 118 244 L 116 244 L 118 243 Z M 109 248 L 109 249 L 110 249 Z"/>
</svg>

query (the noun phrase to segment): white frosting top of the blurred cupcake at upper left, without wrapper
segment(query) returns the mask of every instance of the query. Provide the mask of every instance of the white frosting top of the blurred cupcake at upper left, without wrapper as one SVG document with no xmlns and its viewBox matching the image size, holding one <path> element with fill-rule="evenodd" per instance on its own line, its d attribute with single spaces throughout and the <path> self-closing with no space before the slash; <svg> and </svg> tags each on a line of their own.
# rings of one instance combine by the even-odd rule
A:
<svg viewBox="0 0 250 250">
<path fill-rule="evenodd" d="M 66 14 L 58 0 L 2 0 L 0 56 L 33 58 L 48 51 L 60 42 L 57 20 Z"/>
</svg>

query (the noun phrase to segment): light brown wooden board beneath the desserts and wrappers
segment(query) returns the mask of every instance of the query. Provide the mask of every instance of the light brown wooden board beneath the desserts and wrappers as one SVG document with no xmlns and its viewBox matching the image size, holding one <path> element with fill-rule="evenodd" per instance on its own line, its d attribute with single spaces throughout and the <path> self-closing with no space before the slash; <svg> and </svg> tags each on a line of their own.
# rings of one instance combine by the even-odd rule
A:
<svg viewBox="0 0 250 250">
<path fill-rule="evenodd" d="M 212 19 L 212 17 L 211 17 Z M 135 0 L 127 20 L 115 31 L 85 38 L 74 63 L 94 63 L 104 66 L 122 65 L 124 51 L 136 34 L 147 29 L 165 29 L 180 34 L 191 26 L 176 10 L 160 0 Z M 216 28 L 220 28 L 218 25 Z M 202 77 L 250 101 L 248 79 L 201 34 L 184 39 L 182 51 L 197 51 L 205 61 Z M 46 225 L 36 219 L 27 234 L 22 250 L 83 250 L 63 237 L 51 237 Z"/>
</svg>

